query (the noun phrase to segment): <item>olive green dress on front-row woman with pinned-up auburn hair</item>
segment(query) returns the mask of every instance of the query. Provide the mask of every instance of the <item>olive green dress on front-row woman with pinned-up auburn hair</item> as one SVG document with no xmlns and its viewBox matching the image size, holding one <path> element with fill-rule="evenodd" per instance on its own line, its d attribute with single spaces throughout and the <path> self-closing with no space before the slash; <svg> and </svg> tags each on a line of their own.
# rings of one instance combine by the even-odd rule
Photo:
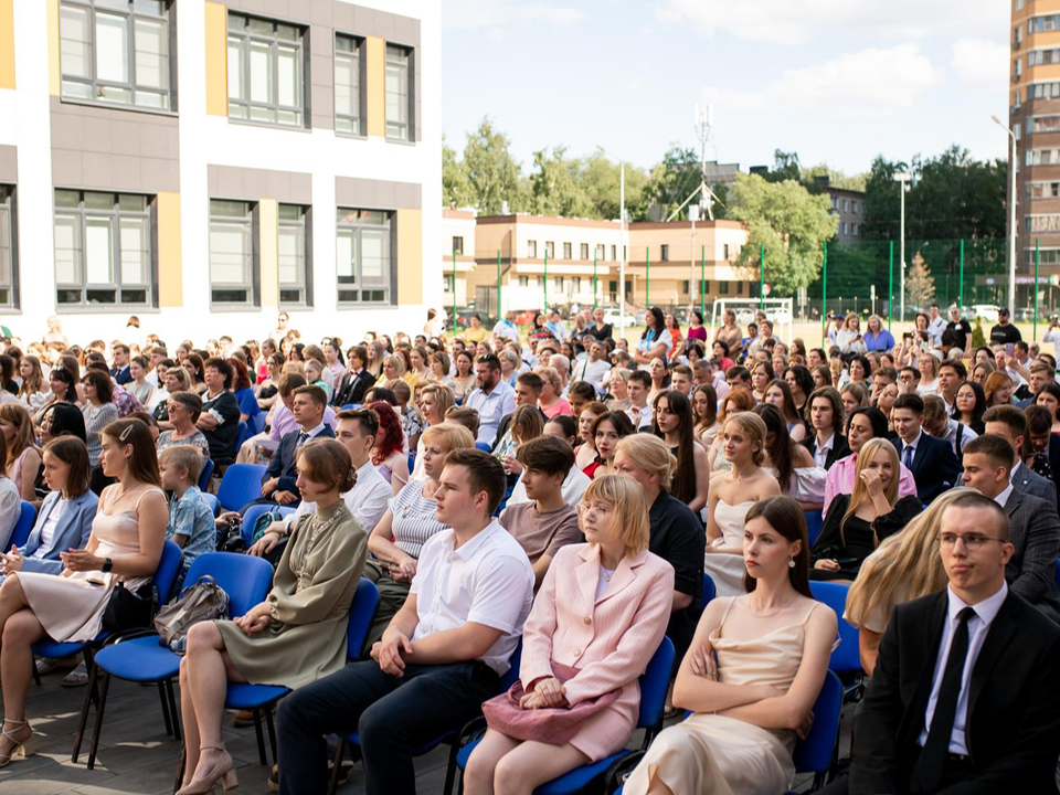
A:
<svg viewBox="0 0 1060 795">
<path fill-rule="evenodd" d="M 266 598 L 268 626 L 247 635 L 218 622 L 247 681 L 295 690 L 346 665 L 347 616 L 367 554 L 368 536 L 342 500 L 298 519 Z"/>
</svg>

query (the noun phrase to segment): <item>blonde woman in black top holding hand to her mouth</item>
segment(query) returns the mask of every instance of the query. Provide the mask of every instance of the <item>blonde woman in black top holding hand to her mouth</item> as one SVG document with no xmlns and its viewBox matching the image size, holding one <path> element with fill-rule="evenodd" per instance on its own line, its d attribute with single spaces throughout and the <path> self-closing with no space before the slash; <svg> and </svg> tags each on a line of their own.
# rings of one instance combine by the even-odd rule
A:
<svg viewBox="0 0 1060 795">
<path fill-rule="evenodd" d="M 836 495 L 810 550 L 814 580 L 854 580 L 880 540 L 893 536 L 921 512 L 915 495 L 899 497 L 898 451 L 871 438 L 858 453 L 854 494 Z"/>
</svg>

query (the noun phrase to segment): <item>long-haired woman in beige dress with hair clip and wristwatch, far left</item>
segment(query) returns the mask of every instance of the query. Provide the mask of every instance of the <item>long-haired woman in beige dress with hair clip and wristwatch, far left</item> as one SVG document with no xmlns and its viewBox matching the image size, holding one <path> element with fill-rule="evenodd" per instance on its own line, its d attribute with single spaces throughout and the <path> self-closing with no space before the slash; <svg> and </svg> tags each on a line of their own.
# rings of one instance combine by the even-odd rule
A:
<svg viewBox="0 0 1060 795">
<path fill-rule="evenodd" d="M 120 582 L 134 593 L 148 585 L 162 555 L 169 511 L 150 431 L 139 420 L 118 420 L 103 428 L 99 439 L 103 474 L 117 483 L 103 490 L 85 549 L 61 552 L 64 571 L 57 576 L 13 572 L 0 586 L 0 767 L 15 753 L 30 753 L 30 646 L 45 635 L 59 643 L 96 637 L 115 585 Z"/>
</svg>

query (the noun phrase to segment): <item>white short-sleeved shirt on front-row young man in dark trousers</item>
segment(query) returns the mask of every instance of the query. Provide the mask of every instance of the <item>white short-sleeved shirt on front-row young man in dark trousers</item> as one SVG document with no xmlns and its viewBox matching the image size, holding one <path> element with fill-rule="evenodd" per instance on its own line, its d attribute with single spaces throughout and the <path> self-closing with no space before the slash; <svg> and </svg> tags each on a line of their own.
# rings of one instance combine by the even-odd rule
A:
<svg viewBox="0 0 1060 795">
<path fill-rule="evenodd" d="M 496 519 L 459 549 L 452 529 L 432 536 L 420 550 L 410 593 L 420 622 L 413 640 L 465 624 L 500 629 L 479 659 L 504 676 L 533 602 L 533 570 L 519 542 Z"/>
</svg>

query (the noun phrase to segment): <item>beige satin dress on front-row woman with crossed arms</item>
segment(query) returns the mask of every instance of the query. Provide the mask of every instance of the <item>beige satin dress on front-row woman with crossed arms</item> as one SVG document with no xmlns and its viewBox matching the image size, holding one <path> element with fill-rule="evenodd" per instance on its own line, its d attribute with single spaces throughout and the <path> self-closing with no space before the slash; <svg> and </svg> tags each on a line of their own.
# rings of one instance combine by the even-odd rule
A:
<svg viewBox="0 0 1060 795">
<path fill-rule="evenodd" d="M 721 681 L 791 688 L 803 659 L 806 622 L 780 627 L 753 640 L 730 640 L 722 633 L 734 598 L 729 601 L 710 643 L 718 653 Z M 637 765 L 624 793 L 639 795 L 653 781 L 670 792 L 697 795 L 781 795 L 795 775 L 795 732 L 768 730 L 725 716 L 697 712 L 662 731 Z"/>
</svg>

